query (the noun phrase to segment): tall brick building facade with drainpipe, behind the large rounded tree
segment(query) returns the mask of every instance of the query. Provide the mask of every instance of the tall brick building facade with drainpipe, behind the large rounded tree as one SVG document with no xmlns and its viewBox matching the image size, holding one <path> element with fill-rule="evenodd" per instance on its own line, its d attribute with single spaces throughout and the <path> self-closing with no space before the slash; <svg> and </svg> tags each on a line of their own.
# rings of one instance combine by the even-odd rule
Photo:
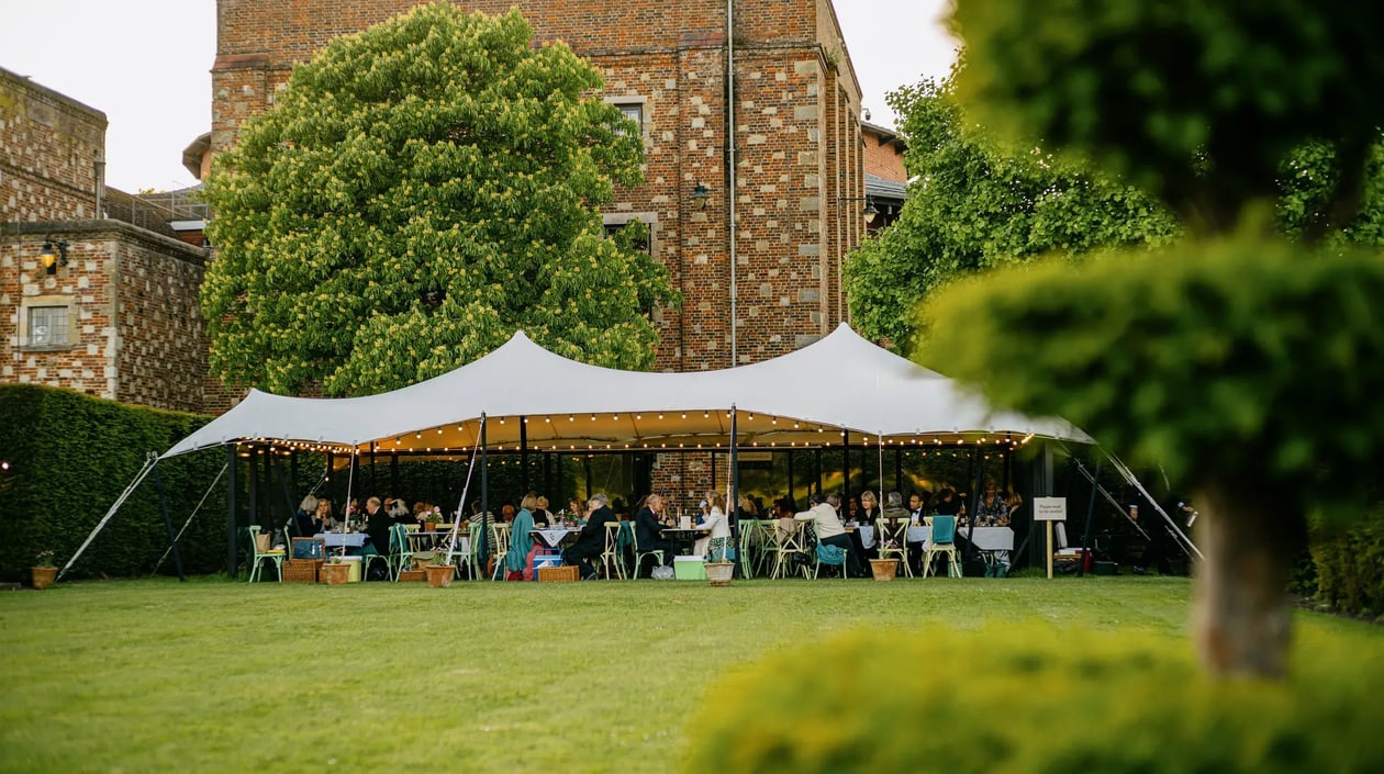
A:
<svg viewBox="0 0 1384 774">
<path fill-rule="evenodd" d="M 639 122 L 645 182 L 617 191 L 605 220 L 645 221 L 650 250 L 682 293 L 681 310 L 656 315 L 659 368 L 763 361 L 846 317 L 841 261 L 866 228 L 864 140 L 859 84 L 830 0 L 736 0 L 734 30 L 725 0 L 454 3 L 487 14 L 518 4 L 538 40 L 562 40 L 592 62 L 605 76 L 601 97 Z M 210 151 L 230 147 L 242 122 L 273 106 L 295 62 L 417 4 L 217 0 Z M 704 206 L 693 202 L 698 187 L 709 194 Z M 655 481 L 695 502 L 713 480 L 709 462 L 664 457 Z"/>
</svg>

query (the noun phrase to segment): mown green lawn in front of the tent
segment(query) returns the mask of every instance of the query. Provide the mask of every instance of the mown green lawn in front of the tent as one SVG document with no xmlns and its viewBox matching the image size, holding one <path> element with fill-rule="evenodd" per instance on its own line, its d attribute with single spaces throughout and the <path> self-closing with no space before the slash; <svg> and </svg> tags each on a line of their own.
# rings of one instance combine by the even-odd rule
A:
<svg viewBox="0 0 1384 774">
<path fill-rule="evenodd" d="M 1045 619 L 1186 644 L 1158 578 L 306 586 L 0 594 L 0 771 L 670 771 L 725 665 L 828 632 Z M 1378 648 L 1384 632 L 1301 626 Z"/>
</svg>

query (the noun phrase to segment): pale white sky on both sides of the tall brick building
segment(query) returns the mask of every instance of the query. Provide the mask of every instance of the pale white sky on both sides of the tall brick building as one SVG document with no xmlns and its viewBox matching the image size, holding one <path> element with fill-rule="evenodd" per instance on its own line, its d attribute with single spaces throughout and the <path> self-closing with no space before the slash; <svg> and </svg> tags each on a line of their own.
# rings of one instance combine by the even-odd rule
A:
<svg viewBox="0 0 1384 774">
<path fill-rule="evenodd" d="M 871 122 L 884 94 L 943 77 L 947 0 L 835 0 Z M 216 0 L 0 0 L 0 68 L 105 113 L 107 182 L 136 194 L 194 185 L 183 148 L 212 129 Z"/>
</svg>

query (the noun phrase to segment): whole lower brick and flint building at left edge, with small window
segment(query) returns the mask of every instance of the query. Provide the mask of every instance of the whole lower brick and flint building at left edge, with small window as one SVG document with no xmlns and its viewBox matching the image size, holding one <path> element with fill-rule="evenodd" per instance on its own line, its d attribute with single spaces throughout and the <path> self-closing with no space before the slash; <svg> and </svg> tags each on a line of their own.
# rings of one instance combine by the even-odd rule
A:
<svg viewBox="0 0 1384 774">
<path fill-rule="evenodd" d="M 105 188 L 105 129 L 100 111 L 0 69 L 0 383 L 221 410 L 198 305 L 206 250 Z"/>
</svg>

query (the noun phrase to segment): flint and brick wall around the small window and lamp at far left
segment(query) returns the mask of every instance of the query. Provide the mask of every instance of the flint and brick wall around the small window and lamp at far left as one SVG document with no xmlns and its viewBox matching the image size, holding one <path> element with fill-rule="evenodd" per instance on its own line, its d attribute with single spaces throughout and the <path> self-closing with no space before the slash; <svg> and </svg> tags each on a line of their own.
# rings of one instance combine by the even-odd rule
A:
<svg viewBox="0 0 1384 774">
<path fill-rule="evenodd" d="M 46 235 L 68 265 L 39 264 Z M 7 224 L 0 236 L 0 381 L 65 387 L 162 409 L 230 406 L 206 377 L 198 310 L 206 250 L 116 220 Z M 35 347 L 30 307 L 66 307 L 65 344 Z"/>
</svg>

